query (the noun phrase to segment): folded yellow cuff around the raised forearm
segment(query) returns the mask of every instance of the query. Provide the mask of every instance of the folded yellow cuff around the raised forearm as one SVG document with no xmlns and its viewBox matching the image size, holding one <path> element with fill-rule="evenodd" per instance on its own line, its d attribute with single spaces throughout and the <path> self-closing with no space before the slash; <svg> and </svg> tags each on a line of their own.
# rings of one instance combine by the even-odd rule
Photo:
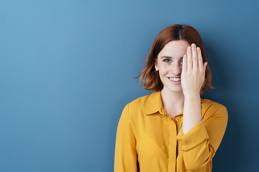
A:
<svg viewBox="0 0 259 172">
<path fill-rule="evenodd" d="M 181 151 L 188 151 L 207 139 L 209 139 L 209 135 L 204 126 L 203 120 L 195 125 L 186 134 L 183 134 L 182 128 L 177 135 L 177 140 L 180 143 L 179 146 Z"/>
</svg>

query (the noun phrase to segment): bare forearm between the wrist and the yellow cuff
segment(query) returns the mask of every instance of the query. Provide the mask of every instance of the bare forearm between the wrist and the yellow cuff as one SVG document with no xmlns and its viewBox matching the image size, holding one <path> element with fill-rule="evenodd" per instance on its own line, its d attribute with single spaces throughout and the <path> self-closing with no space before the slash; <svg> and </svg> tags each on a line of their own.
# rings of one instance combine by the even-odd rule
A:
<svg viewBox="0 0 259 172">
<path fill-rule="evenodd" d="M 199 93 L 184 97 L 183 134 L 202 120 Z"/>
</svg>

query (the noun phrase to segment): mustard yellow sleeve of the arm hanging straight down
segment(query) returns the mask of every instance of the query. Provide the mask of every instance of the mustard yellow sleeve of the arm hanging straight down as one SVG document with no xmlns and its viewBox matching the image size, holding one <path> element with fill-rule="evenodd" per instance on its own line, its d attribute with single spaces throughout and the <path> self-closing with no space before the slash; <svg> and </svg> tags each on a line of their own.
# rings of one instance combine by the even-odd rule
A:
<svg viewBox="0 0 259 172">
<path fill-rule="evenodd" d="M 114 172 L 126 171 L 137 171 L 136 139 L 128 105 L 124 108 L 118 124 L 114 157 Z"/>
</svg>

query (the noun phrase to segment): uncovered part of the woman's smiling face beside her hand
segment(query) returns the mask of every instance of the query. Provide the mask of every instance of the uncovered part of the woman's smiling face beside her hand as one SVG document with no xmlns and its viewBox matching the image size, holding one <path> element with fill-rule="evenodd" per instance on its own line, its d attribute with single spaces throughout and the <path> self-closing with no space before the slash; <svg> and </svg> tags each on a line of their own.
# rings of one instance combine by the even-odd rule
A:
<svg viewBox="0 0 259 172">
<path fill-rule="evenodd" d="M 181 74 L 183 56 L 190 44 L 184 40 L 170 41 L 159 52 L 155 61 L 164 91 L 181 92 Z"/>
</svg>

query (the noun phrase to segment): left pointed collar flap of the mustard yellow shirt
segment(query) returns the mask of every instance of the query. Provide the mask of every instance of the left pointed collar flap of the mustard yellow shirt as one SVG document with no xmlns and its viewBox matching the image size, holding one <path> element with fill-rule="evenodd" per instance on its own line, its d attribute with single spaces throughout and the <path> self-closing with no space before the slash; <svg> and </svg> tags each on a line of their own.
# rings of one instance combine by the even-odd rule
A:
<svg viewBox="0 0 259 172">
<path fill-rule="evenodd" d="M 154 91 L 150 94 L 145 115 L 152 115 L 156 112 L 165 114 L 160 91 Z"/>
</svg>

